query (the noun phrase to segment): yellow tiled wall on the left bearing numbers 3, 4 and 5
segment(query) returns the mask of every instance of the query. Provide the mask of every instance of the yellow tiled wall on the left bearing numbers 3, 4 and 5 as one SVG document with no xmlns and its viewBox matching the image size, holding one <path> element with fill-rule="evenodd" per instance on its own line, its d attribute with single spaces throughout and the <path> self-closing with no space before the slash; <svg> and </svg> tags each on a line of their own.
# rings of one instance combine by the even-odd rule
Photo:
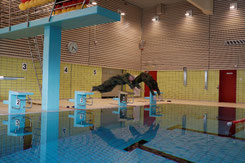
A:
<svg viewBox="0 0 245 163">
<path fill-rule="evenodd" d="M 22 63 L 27 64 L 27 70 L 22 70 Z M 35 70 L 30 59 L 0 57 L 0 76 L 24 77 L 23 80 L 0 80 L 0 100 L 8 99 L 9 90 L 33 92 L 32 99 L 41 99 Z M 64 72 L 64 67 L 68 72 Z M 94 74 L 96 70 L 96 74 Z M 41 70 L 38 70 L 41 74 Z M 102 68 L 77 64 L 61 63 L 60 67 L 60 99 L 74 97 L 75 90 L 90 91 L 92 86 L 101 84 Z M 42 84 L 42 80 L 40 80 Z M 95 93 L 100 98 L 100 93 Z"/>
</svg>

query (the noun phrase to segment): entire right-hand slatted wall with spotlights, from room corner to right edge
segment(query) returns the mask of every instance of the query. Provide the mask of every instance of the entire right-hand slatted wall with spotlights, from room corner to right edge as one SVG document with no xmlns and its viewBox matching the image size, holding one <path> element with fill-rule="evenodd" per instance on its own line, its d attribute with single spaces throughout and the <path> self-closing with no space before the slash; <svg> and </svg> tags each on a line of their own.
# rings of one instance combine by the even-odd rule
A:
<svg viewBox="0 0 245 163">
<path fill-rule="evenodd" d="M 215 0 L 214 15 L 207 16 L 188 2 L 166 6 L 159 22 L 155 9 L 143 12 L 142 53 L 145 70 L 237 69 L 245 67 L 245 45 L 227 46 L 226 40 L 245 39 L 245 1 L 230 10 L 230 0 Z M 192 9 L 193 16 L 185 12 Z M 210 38 L 209 38 L 210 37 Z"/>
</svg>

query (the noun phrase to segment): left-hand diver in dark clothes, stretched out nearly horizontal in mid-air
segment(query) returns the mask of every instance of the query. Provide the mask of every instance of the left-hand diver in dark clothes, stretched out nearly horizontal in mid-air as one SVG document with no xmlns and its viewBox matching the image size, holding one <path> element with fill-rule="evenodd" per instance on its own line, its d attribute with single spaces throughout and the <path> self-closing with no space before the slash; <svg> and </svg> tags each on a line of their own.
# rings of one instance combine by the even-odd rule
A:
<svg viewBox="0 0 245 163">
<path fill-rule="evenodd" d="M 91 91 L 99 91 L 100 93 L 110 92 L 117 85 L 125 85 L 125 84 L 128 84 L 131 89 L 134 89 L 134 85 L 132 83 L 134 78 L 135 77 L 130 73 L 126 73 L 123 75 L 116 75 L 104 81 L 99 86 L 93 86 Z"/>
</svg>

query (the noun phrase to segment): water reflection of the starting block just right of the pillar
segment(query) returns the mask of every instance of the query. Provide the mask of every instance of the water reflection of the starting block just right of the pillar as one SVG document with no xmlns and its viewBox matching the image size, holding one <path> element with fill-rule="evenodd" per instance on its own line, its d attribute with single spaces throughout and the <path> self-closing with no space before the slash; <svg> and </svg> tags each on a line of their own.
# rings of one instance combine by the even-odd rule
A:
<svg viewBox="0 0 245 163">
<path fill-rule="evenodd" d="M 93 125 L 93 114 L 87 112 L 87 110 L 74 110 L 73 115 L 69 115 L 69 118 L 74 119 L 74 127 L 92 127 Z"/>
</svg>

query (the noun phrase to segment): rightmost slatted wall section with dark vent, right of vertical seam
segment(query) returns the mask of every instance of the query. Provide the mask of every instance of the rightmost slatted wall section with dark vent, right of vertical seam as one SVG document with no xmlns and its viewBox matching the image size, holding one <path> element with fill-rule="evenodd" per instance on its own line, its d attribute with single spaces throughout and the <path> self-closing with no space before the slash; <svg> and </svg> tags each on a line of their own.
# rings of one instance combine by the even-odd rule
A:
<svg viewBox="0 0 245 163">
<path fill-rule="evenodd" d="M 237 1 L 238 10 L 230 10 L 231 2 L 236 1 L 216 0 L 214 3 L 214 15 L 210 19 L 212 69 L 245 68 L 245 45 L 224 45 L 225 40 L 245 39 L 245 1 Z"/>
</svg>

